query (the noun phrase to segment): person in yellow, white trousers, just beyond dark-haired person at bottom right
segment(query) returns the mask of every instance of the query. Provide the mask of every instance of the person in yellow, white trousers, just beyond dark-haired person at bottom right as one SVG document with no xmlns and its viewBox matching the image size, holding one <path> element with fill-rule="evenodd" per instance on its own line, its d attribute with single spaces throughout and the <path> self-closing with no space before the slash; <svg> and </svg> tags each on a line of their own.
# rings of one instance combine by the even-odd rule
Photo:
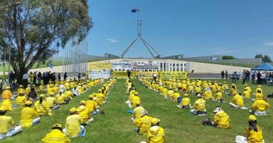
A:
<svg viewBox="0 0 273 143">
<path fill-rule="evenodd" d="M 268 108 L 269 104 L 265 100 L 258 99 L 254 101 L 249 112 L 255 115 L 267 115 L 267 112 L 265 112 L 265 110 L 267 110 Z"/>
</svg>

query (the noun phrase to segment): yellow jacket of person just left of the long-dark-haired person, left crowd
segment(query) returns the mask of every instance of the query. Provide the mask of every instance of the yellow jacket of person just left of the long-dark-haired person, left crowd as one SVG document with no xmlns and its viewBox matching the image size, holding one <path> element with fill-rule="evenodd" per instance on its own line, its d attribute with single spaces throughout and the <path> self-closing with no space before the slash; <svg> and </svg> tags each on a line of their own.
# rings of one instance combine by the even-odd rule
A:
<svg viewBox="0 0 273 143">
<path fill-rule="evenodd" d="M 24 107 L 21 112 L 20 123 L 22 128 L 29 128 L 32 126 L 32 121 L 39 115 L 31 107 Z"/>
</svg>

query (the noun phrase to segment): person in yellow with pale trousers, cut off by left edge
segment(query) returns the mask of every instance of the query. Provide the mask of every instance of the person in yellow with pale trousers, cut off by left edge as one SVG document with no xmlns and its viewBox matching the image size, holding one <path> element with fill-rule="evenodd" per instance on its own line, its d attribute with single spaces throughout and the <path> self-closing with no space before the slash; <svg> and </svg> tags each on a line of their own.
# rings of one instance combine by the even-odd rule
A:
<svg viewBox="0 0 273 143">
<path fill-rule="evenodd" d="M 0 107 L 0 140 L 22 132 L 22 127 L 15 126 L 11 116 L 5 116 L 6 111 L 7 110 L 5 108 Z"/>
</svg>

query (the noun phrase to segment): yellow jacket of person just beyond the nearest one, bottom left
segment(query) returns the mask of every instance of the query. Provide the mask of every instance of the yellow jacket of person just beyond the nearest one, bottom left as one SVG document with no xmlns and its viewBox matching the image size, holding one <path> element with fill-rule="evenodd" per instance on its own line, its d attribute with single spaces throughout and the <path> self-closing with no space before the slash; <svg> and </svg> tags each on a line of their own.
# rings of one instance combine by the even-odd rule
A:
<svg viewBox="0 0 273 143">
<path fill-rule="evenodd" d="M 71 137 L 78 137 L 80 134 L 80 124 L 83 123 L 83 119 L 80 118 L 79 114 L 72 114 L 66 118 L 66 133 Z"/>
</svg>

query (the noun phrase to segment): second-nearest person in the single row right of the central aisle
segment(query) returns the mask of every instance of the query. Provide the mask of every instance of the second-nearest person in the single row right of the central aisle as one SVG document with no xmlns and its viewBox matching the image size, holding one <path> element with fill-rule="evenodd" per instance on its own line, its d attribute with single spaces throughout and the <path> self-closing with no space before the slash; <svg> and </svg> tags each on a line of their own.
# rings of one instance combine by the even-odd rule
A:
<svg viewBox="0 0 273 143">
<path fill-rule="evenodd" d="M 146 134 L 148 130 L 151 128 L 152 119 L 153 117 L 148 116 L 148 112 L 144 110 L 141 113 L 140 119 L 135 121 L 135 124 L 137 125 L 135 131 L 141 135 Z"/>
</svg>

